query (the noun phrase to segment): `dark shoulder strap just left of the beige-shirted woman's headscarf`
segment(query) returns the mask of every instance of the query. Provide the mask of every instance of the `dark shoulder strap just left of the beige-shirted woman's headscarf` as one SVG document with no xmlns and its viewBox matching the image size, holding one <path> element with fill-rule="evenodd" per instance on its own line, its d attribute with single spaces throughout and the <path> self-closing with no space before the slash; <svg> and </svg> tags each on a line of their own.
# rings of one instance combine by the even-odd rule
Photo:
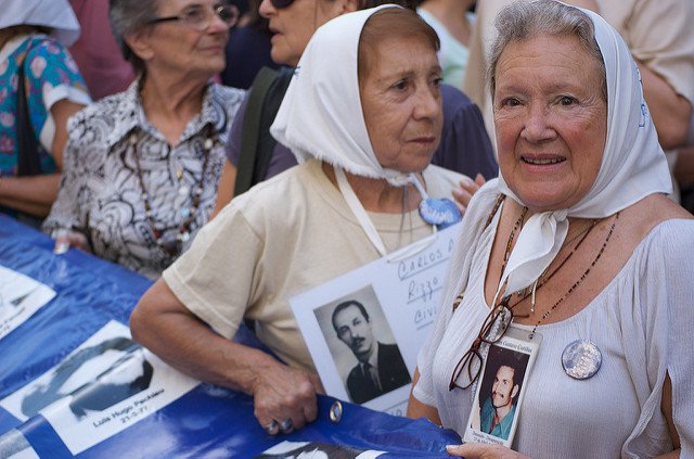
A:
<svg viewBox="0 0 694 459">
<path fill-rule="evenodd" d="M 241 136 L 241 151 L 236 165 L 236 182 L 234 195 L 247 191 L 253 186 L 256 155 L 258 151 L 258 135 L 260 131 L 260 116 L 265 97 L 277 78 L 278 72 L 270 67 L 262 67 L 250 88 L 248 104 L 243 119 L 243 135 Z"/>
</svg>

